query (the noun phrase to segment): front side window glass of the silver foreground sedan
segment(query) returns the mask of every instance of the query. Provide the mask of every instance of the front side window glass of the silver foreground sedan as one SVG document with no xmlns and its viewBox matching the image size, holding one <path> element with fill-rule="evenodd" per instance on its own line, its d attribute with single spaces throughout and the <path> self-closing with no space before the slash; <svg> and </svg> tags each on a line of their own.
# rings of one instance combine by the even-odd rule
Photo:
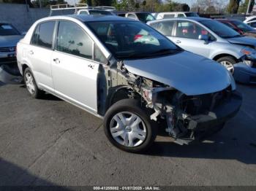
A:
<svg viewBox="0 0 256 191">
<path fill-rule="evenodd" d="M 57 36 L 56 50 L 92 58 L 92 40 L 80 26 L 70 21 L 61 21 Z"/>
</svg>

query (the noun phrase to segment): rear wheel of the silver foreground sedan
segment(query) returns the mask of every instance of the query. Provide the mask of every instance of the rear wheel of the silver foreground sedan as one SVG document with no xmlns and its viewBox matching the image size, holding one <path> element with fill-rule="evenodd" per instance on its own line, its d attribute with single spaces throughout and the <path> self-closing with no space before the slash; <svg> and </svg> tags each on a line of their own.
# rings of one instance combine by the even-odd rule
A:
<svg viewBox="0 0 256 191">
<path fill-rule="evenodd" d="M 37 83 L 34 79 L 34 75 L 32 74 L 31 69 L 26 68 L 23 74 L 23 80 L 26 85 L 26 89 L 29 91 L 29 94 L 33 98 L 41 98 L 44 94 L 44 91 L 39 90 L 37 87 Z"/>
</svg>

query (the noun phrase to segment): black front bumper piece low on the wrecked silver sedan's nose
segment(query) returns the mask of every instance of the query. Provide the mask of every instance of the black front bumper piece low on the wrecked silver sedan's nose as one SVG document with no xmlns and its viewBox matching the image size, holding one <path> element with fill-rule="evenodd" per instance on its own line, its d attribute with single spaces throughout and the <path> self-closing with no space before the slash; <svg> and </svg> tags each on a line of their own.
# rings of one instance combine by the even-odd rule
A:
<svg viewBox="0 0 256 191">
<path fill-rule="evenodd" d="M 234 91 L 228 101 L 217 106 L 213 111 L 208 112 L 208 114 L 199 114 L 195 116 L 188 117 L 189 130 L 195 132 L 205 132 L 213 131 L 214 128 L 218 128 L 224 122 L 234 117 L 242 103 L 241 93 Z"/>
</svg>

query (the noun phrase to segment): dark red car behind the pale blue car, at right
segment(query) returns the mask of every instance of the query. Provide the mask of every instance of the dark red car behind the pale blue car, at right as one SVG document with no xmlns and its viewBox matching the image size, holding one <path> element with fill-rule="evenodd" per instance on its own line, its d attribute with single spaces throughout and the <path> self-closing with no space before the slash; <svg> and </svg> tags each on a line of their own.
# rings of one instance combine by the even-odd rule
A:
<svg viewBox="0 0 256 191">
<path fill-rule="evenodd" d="M 241 20 L 236 19 L 217 19 L 220 23 L 225 24 L 226 26 L 237 31 L 239 34 L 244 36 L 256 37 L 256 29 L 251 26 L 243 23 Z"/>
</svg>

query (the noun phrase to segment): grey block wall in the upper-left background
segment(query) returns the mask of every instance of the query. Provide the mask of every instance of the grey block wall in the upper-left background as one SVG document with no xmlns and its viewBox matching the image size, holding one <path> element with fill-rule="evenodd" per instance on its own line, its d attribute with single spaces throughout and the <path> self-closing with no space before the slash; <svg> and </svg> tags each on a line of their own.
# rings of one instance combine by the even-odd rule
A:
<svg viewBox="0 0 256 191">
<path fill-rule="evenodd" d="M 20 32 L 28 31 L 29 27 L 42 17 L 48 17 L 50 9 L 29 8 L 26 4 L 0 3 L 0 23 L 12 23 Z"/>
</svg>

